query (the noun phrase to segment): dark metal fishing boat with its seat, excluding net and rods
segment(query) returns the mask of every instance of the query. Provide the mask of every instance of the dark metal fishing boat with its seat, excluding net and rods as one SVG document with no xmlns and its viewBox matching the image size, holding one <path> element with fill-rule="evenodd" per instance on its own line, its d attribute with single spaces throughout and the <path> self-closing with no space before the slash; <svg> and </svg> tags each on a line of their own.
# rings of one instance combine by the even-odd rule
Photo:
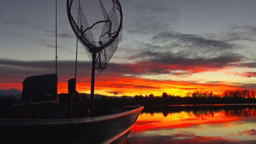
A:
<svg viewBox="0 0 256 144">
<path fill-rule="evenodd" d="M 115 107 L 110 109 L 111 115 L 92 118 L 89 118 L 90 110 L 74 111 L 77 118 L 69 118 L 67 113 L 71 111 L 57 112 L 56 119 L 55 100 L 31 103 L 36 96 L 55 93 L 56 76 L 47 74 L 25 78 L 22 103 L 10 106 L 19 117 L 0 119 L 1 143 L 121 144 L 127 140 L 143 106 Z"/>
</svg>

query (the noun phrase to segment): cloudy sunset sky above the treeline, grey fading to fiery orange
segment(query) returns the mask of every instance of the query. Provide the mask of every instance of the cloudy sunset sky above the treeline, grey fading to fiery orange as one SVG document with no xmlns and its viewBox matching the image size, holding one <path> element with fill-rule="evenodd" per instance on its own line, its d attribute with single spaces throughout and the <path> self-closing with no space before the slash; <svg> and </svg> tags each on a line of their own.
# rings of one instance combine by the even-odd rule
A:
<svg viewBox="0 0 256 144">
<path fill-rule="evenodd" d="M 255 0 L 119 0 L 122 42 L 95 93 L 134 96 L 256 90 Z M 0 92 L 55 73 L 55 0 L 0 2 Z M 76 37 L 57 0 L 58 92 L 75 77 Z M 91 62 L 78 44 L 77 90 L 90 93 Z M 11 92 L 10 90 L 10 92 Z"/>
</svg>

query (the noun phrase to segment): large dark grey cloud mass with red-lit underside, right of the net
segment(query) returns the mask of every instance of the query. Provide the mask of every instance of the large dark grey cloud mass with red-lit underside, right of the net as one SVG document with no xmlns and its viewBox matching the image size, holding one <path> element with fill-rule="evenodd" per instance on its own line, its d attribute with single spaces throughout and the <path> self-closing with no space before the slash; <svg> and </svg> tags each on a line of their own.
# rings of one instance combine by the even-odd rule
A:
<svg viewBox="0 0 256 144">
<path fill-rule="evenodd" d="M 246 56 L 235 53 L 241 46 L 226 41 L 175 31 L 159 32 L 152 41 L 152 44 L 134 41 L 134 45 L 121 48 L 114 59 L 122 59 L 127 64 L 120 65 L 119 71 L 134 75 L 188 76 L 227 68 L 256 67 L 256 63 L 246 62 Z"/>
</svg>

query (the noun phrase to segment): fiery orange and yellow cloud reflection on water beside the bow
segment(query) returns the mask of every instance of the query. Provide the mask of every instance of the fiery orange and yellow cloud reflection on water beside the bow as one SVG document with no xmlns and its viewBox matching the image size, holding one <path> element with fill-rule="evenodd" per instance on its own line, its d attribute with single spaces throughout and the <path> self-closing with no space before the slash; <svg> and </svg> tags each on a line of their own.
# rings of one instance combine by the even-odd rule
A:
<svg viewBox="0 0 256 144">
<path fill-rule="evenodd" d="M 194 128 L 202 124 L 228 123 L 235 120 L 238 119 L 226 117 L 224 113 L 216 113 L 215 117 L 197 117 L 196 115 L 188 115 L 186 112 L 168 113 L 168 116 L 163 115 L 163 113 L 154 113 L 152 116 L 142 113 L 132 130 L 144 133 L 145 131 L 158 131 L 162 129 Z"/>
</svg>

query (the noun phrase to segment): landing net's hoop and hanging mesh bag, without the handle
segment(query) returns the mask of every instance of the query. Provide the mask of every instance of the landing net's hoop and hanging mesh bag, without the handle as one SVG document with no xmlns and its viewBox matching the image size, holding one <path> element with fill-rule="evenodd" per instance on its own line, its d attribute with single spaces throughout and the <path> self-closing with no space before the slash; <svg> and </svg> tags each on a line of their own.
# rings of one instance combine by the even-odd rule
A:
<svg viewBox="0 0 256 144">
<path fill-rule="evenodd" d="M 117 0 L 68 0 L 69 22 L 95 69 L 103 72 L 122 41 L 122 11 Z"/>
</svg>

